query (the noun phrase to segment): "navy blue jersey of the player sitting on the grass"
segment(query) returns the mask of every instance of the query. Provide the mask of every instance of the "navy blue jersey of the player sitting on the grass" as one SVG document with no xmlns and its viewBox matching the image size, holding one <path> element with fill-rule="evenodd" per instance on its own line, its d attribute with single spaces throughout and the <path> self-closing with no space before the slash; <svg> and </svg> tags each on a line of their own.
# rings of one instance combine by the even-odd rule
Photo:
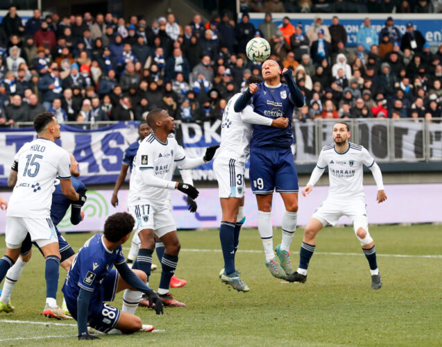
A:
<svg viewBox="0 0 442 347">
<path fill-rule="evenodd" d="M 62 288 L 65 296 L 77 298 L 80 288 L 94 291 L 92 298 L 101 295 L 101 280 L 108 276 L 114 264 L 125 262 L 121 245 L 109 251 L 103 243 L 103 237 L 103 233 L 92 236 L 78 251 Z"/>
</svg>

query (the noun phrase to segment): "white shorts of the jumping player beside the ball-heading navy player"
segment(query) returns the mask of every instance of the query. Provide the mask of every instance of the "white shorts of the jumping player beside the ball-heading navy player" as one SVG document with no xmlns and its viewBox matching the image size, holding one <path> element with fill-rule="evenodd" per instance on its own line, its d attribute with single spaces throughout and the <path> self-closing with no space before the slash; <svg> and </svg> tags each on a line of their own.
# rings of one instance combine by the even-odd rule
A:
<svg viewBox="0 0 442 347">
<path fill-rule="evenodd" d="M 242 198 L 246 184 L 244 183 L 244 162 L 232 158 L 217 157 L 213 162 L 213 171 L 218 180 L 220 198 Z"/>
</svg>

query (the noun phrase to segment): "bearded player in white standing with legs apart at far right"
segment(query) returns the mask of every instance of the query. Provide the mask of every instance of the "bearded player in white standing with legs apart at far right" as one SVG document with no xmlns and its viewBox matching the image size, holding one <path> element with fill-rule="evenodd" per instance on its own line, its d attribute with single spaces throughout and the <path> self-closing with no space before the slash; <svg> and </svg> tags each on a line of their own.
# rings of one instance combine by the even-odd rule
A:
<svg viewBox="0 0 442 347">
<path fill-rule="evenodd" d="M 371 288 L 382 287 L 382 279 L 377 269 L 375 243 L 368 232 L 368 218 L 364 201 L 363 165 L 368 167 L 377 185 L 377 203 L 386 200 L 382 173 L 373 157 L 363 146 L 348 142 L 348 124 L 338 122 L 333 126 L 334 144 L 324 146 L 318 163 L 312 172 L 303 196 L 312 192 L 313 186 L 328 166 L 330 190 L 327 199 L 319 206 L 305 227 L 303 244 L 299 254 L 299 268 L 286 279 L 289 282 L 304 283 L 307 280 L 307 266 L 316 246 L 316 234 L 324 226 L 334 224 L 341 216 L 347 216 L 353 223 L 356 237 L 362 245 L 371 272 Z"/>
</svg>

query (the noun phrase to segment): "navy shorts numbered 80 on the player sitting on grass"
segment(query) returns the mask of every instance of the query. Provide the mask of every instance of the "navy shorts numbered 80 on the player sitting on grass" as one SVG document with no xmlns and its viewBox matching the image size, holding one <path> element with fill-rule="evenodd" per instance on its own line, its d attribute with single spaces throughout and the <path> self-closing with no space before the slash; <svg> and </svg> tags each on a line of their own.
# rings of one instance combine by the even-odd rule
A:
<svg viewBox="0 0 442 347">
<path fill-rule="evenodd" d="M 119 273 L 113 269 L 108 276 L 103 278 L 98 293 L 92 295 L 87 313 L 87 323 L 101 332 L 109 332 L 117 325 L 121 311 L 105 301 L 114 301 L 117 291 Z M 70 314 L 77 319 L 77 298 L 65 296 L 66 305 Z"/>
</svg>

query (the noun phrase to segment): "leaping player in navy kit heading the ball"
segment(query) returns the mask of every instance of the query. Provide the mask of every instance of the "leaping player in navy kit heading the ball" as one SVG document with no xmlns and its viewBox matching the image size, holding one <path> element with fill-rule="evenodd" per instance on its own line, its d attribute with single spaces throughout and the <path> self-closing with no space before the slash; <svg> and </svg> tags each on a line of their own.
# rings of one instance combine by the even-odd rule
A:
<svg viewBox="0 0 442 347">
<path fill-rule="evenodd" d="M 280 81 L 284 76 L 287 85 Z M 237 99 L 235 112 L 244 110 L 250 102 L 254 111 L 263 117 L 289 118 L 286 128 L 273 128 L 253 124 L 250 140 L 250 185 L 258 205 L 258 230 L 266 255 L 266 266 L 277 278 L 291 273 L 289 250 L 296 230 L 298 218 L 298 176 L 291 144 L 294 142 L 291 119 L 295 106 L 304 105 L 304 96 L 291 78 L 291 70 L 281 70 L 275 60 L 266 60 L 262 65 L 264 83 L 252 84 Z M 273 191 L 281 194 L 285 211 L 282 217 L 282 242 L 273 252 L 273 230 L 271 205 Z"/>
</svg>

